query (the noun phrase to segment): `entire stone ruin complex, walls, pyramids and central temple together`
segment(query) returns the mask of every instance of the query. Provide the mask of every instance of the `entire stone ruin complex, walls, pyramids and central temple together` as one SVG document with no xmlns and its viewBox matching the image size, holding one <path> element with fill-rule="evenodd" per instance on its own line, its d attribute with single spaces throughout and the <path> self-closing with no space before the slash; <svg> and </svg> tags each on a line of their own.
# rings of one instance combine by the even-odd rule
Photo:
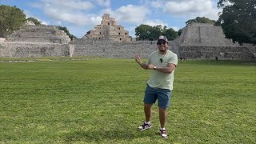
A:
<svg viewBox="0 0 256 144">
<path fill-rule="evenodd" d="M 102 16 L 102 24 L 82 38 L 70 38 L 54 26 L 24 26 L 6 40 L 0 39 L 0 57 L 76 57 L 148 58 L 158 50 L 156 41 L 134 41 L 123 26 L 116 25 L 110 14 Z M 220 26 L 191 23 L 182 34 L 169 42 L 170 50 L 179 58 L 255 60 L 256 46 L 226 39 Z"/>
</svg>

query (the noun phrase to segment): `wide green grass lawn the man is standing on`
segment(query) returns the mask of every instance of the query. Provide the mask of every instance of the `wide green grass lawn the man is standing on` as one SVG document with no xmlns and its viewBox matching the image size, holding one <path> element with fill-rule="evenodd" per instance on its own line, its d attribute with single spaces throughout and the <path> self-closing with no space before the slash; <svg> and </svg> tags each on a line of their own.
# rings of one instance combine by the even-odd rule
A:
<svg viewBox="0 0 256 144">
<path fill-rule="evenodd" d="M 180 62 L 169 138 L 138 131 L 150 70 L 134 59 L 0 63 L 0 143 L 255 143 L 256 66 Z"/>
</svg>

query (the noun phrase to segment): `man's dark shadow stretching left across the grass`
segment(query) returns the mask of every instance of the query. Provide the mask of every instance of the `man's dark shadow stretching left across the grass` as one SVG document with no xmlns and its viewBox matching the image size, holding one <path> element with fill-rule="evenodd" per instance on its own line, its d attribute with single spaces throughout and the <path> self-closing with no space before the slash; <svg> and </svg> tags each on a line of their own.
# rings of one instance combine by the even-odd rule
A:
<svg viewBox="0 0 256 144">
<path fill-rule="evenodd" d="M 115 142 L 118 140 L 129 141 L 134 138 L 145 138 L 150 136 L 152 136 L 152 132 L 140 132 L 138 130 L 78 130 L 65 134 L 62 138 L 65 142 Z"/>
</svg>

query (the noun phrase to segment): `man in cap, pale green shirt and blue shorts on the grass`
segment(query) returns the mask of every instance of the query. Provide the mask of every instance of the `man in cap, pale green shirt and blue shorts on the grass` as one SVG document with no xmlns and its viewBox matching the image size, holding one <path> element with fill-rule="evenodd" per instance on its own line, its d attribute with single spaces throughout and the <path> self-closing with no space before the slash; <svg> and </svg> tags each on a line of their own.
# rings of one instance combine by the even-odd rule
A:
<svg viewBox="0 0 256 144">
<path fill-rule="evenodd" d="M 178 64 L 177 54 L 168 50 L 168 40 L 165 36 L 158 38 L 158 50 L 150 54 L 146 63 L 141 61 L 138 54 L 135 58 L 136 62 L 145 70 L 151 70 L 150 80 L 144 96 L 144 113 L 145 122 L 138 130 L 147 130 L 151 128 L 150 116 L 151 107 L 158 99 L 158 110 L 160 120 L 160 134 L 162 138 L 167 138 L 166 134 L 166 109 L 170 106 L 170 96 L 173 90 L 174 69 Z"/>
</svg>

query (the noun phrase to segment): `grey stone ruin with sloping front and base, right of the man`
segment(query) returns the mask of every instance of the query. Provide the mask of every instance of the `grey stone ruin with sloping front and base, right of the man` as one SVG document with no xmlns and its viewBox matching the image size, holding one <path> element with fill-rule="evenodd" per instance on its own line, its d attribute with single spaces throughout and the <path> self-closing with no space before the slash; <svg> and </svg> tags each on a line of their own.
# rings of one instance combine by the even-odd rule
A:
<svg viewBox="0 0 256 144">
<path fill-rule="evenodd" d="M 252 49 L 226 39 L 222 27 L 211 24 L 191 23 L 182 29 L 182 34 L 174 42 L 180 58 L 255 58 Z"/>
</svg>

